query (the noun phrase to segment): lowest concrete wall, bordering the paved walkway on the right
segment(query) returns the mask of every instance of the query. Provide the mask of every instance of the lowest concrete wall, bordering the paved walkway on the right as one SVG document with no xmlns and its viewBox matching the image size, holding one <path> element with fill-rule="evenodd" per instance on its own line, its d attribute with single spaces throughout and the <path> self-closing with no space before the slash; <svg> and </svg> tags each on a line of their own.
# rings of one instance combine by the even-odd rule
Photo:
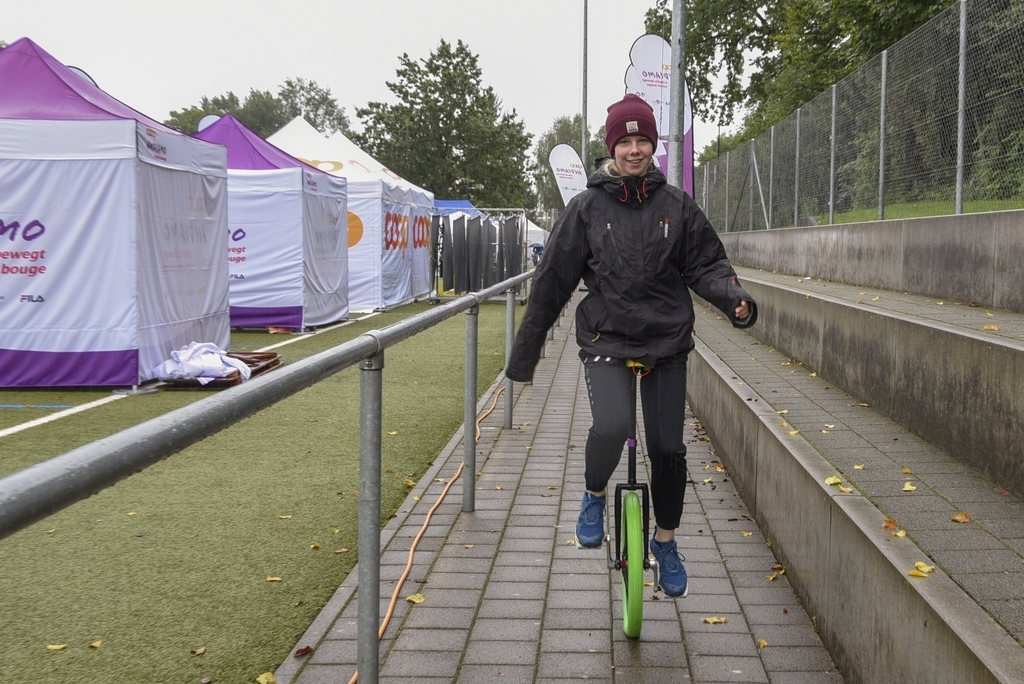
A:
<svg viewBox="0 0 1024 684">
<path fill-rule="evenodd" d="M 940 570 L 907 576 L 916 546 L 826 486 L 824 458 L 699 341 L 688 375 L 690 405 L 847 682 L 1024 681 L 1018 644 Z"/>
</svg>

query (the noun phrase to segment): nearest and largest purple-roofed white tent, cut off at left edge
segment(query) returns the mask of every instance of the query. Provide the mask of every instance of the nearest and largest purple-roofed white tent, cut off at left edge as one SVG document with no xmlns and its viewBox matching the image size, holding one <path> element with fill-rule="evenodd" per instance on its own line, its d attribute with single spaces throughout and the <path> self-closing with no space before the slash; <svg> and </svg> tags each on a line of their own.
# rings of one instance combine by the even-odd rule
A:
<svg viewBox="0 0 1024 684">
<path fill-rule="evenodd" d="M 0 50 L 0 387 L 130 386 L 226 348 L 226 151 L 28 38 Z"/>
</svg>

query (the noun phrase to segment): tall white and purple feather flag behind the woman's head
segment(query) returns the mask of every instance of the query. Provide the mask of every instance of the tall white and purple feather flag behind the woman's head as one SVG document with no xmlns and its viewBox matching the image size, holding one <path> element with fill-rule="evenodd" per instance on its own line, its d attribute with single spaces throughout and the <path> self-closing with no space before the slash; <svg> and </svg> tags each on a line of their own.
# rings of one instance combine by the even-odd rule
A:
<svg viewBox="0 0 1024 684">
<path fill-rule="evenodd" d="M 662 137 L 654 151 L 662 172 L 669 173 L 671 149 L 669 128 L 672 114 L 672 47 L 660 36 L 645 34 L 630 48 L 630 66 L 624 78 L 626 92 L 643 97 L 654 110 L 657 133 Z M 683 102 L 683 189 L 693 196 L 693 112 L 689 88 Z"/>
</svg>

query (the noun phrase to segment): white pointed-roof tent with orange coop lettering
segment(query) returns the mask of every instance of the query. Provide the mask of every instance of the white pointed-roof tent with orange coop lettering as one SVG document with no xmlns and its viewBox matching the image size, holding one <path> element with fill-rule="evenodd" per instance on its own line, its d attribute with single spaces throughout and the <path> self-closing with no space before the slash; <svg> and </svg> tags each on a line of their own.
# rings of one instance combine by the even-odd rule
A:
<svg viewBox="0 0 1024 684">
<path fill-rule="evenodd" d="M 388 171 L 344 135 L 325 137 L 301 117 L 267 141 L 348 181 L 351 311 L 388 308 L 429 295 L 431 193 Z"/>
</svg>

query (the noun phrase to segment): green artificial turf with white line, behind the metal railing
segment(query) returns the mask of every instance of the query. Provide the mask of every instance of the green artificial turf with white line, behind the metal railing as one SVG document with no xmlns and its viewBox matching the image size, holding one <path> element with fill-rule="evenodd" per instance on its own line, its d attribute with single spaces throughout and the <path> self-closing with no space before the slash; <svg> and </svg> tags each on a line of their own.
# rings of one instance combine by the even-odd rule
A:
<svg viewBox="0 0 1024 684">
<path fill-rule="evenodd" d="M 295 361 L 429 307 L 410 304 L 278 351 Z M 481 394 L 504 366 L 505 315 L 504 305 L 480 306 Z M 465 328 L 460 314 L 385 351 L 385 520 L 407 497 L 404 480 L 421 477 L 462 425 Z M 281 340 L 232 333 L 231 348 Z M 0 540 L 3 680 L 227 684 L 272 672 L 356 561 L 358 373 L 342 371 Z M 0 404 L 105 396 L 3 390 Z M 204 396 L 130 396 L 0 437 L 0 476 Z M 0 429 L 53 411 L 0 409 Z"/>
</svg>

